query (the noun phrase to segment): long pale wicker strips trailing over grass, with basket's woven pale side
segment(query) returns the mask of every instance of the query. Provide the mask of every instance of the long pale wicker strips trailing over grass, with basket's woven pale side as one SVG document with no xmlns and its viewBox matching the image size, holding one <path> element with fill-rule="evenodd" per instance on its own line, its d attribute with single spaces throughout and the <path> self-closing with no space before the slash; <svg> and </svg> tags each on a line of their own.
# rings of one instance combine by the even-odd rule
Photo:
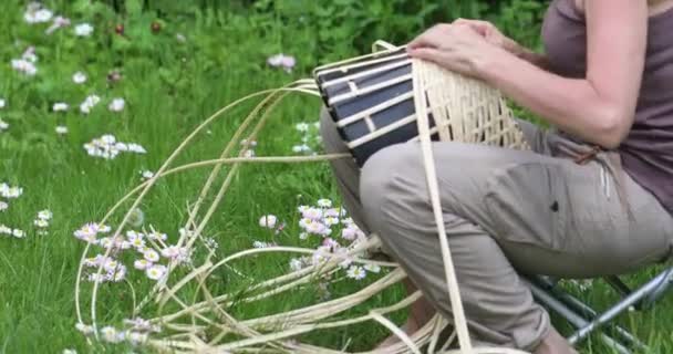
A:
<svg viewBox="0 0 673 354">
<path fill-rule="evenodd" d="M 386 43 L 377 44 L 383 45 L 385 50 L 395 49 Z M 367 56 L 354 60 L 362 60 Z M 331 65 L 345 65 L 351 61 Z M 438 132 L 441 139 L 444 140 L 456 139 L 466 143 L 491 144 L 520 149 L 528 147 L 524 142 L 521 132 L 511 117 L 505 98 L 497 90 L 487 86 L 483 82 L 448 72 L 432 63 L 413 60 L 412 65 L 413 95 L 420 132 L 420 136 L 416 139 L 420 140 L 423 152 L 423 155 L 418 158 L 423 158 L 426 169 L 428 190 L 445 263 L 447 292 L 451 295 L 451 303 L 454 310 L 453 319 L 444 319 L 436 314 L 426 325 L 411 335 L 405 334 L 392 321 L 386 319 L 386 314 L 400 311 L 412 304 L 421 296 L 420 292 L 411 294 L 393 305 L 371 309 L 365 315 L 346 320 L 330 319 L 334 314 L 343 313 L 365 302 L 367 299 L 398 283 L 406 277 L 396 263 L 372 260 L 364 257 L 369 251 L 377 249 L 381 246 L 377 236 L 370 235 L 366 241 L 359 242 L 348 254 L 333 254 L 333 257 L 328 257 L 319 264 L 311 264 L 298 271 L 258 282 L 250 288 L 250 290 L 256 291 L 255 295 L 236 299 L 236 301 L 248 303 L 261 301 L 302 287 L 312 279 L 315 279 L 315 277 L 335 272 L 344 257 L 349 257 L 358 263 L 372 263 L 392 269 L 384 277 L 352 294 L 255 319 L 238 320 L 231 315 L 228 312 L 228 306 L 234 301 L 235 294 L 213 293 L 207 287 L 208 278 L 216 270 L 228 267 L 229 263 L 237 259 L 263 252 L 311 254 L 314 250 L 294 247 L 268 247 L 244 250 L 229 254 L 224 259 L 214 259 L 214 252 L 211 252 L 203 263 L 190 264 L 189 272 L 182 277 L 182 279 L 175 279 L 177 278 L 173 272 L 173 266 L 175 264 L 168 264 L 167 275 L 159 280 L 152 291 L 144 294 L 142 299 L 138 299 L 137 303 L 135 301 L 136 294 L 135 292 L 133 293 L 134 313 L 139 313 L 147 304 L 154 304 L 158 306 L 157 312 L 159 314 L 154 319 L 149 319 L 151 323 L 161 325 L 167 330 L 149 334 L 144 341 L 145 345 L 159 352 L 172 353 L 346 353 L 346 351 L 301 343 L 294 339 L 318 330 L 348 326 L 365 321 L 376 321 L 397 335 L 401 341 L 384 350 L 373 350 L 366 353 L 421 353 L 421 347 L 427 353 L 522 353 L 510 348 L 474 347 L 470 342 L 449 246 L 444 231 L 435 166 L 432 158 L 431 134 Z M 127 227 L 133 210 L 139 206 L 143 198 L 147 196 L 158 179 L 193 168 L 210 166 L 213 169 L 208 179 L 187 210 L 188 220 L 185 227 L 193 230 L 193 232 L 182 235 L 177 242 L 178 247 L 189 249 L 195 247 L 196 242 L 203 241 L 201 233 L 213 217 L 217 205 L 227 194 L 234 177 L 244 165 L 317 163 L 339 158 L 352 158 L 350 154 L 245 157 L 244 152 L 239 152 L 237 148 L 238 142 L 242 138 L 246 138 L 244 142 L 253 140 L 265 126 L 265 123 L 267 123 L 269 113 L 273 107 L 288 94 L 297 93 L 320 97 L 315 81 L 299 80 L 280 88 L 248 95 L 216 112 L 184 139 L 153 178 L 142 183 L 121 198 L 100 221 L 100 225 L 104 225 L 123 206 L 126 206 L 126 214 L 116 226 L 116 231 L 113 230 L 115 232 L 113 235 L 120 235 Z M 209 124 L 237 105 L 255 98 L 261 98 L 261 102 L 242 121 L 218 159 L 200 160 L 180 166 L 173 165 L 176 157 L 190 143 L 194 143 L 195 137 L 199 133 L 203 133 Z M 425 104 L 426 102 L 427 104 Z M 429 112 L 432 112 L 436 125 L 432 128 L 432 132 L 428 124 Z M 224 176 L 220 176 L 220 174 L 224 174 Z M 216 185 L 215 181 L 219 180 L 218 177 L 224 178 L 219 185 Z M 207 196 L 213 198 L 208 199 L 206 198 Z M 205 202 L 205 200 L 208 200 L 208 202 Z M 82 254 L 75 289 L 76 315 L 79 323 L 87 323 L 97 329 L 101 325 L 100 311 L 97 310 L 100 305 L 97 304 L 97 300 L 101 283 L 81 281 L 84 269 L 82 263 L 90 257 L 91 251 L 92 246 L 87 246 Z M 105 256 L 110 256 L 112 248 L 108 248 Z M 102 272 L 103 266 L 100 266 L 97 273 L 101 274 Z M 199 300 L 196 300 L 196 296 L 186 298 L 178 295 L 180 293 L 179 290 L 187 285 L 196 287 L 199 290 Z M 90 287 L 91 289 L 89 289 Z M 166 306 L 169 303 L 173 306 Z M 168 308 L 179 310 L 167 312 L 166 309 Z M 209 331 L 207 336 L 204 335 L 206 329 Z M 449 332 L 453 331 L 448 340 L 446 340 L 447 331 L 445 329 L 449 329 Z M 444 333 L 444 340 L 439 341 L 442 333 Z M 236 335 L 236 340 L 231 340 L 231 334 Z M 204 337 L 207 337 L 207 340 L 204 340 Z M 454 347 L 457 344 L 458 348 L 449 350 L 448 347 L 452 344 L 454 344 Z"/>
</svg>

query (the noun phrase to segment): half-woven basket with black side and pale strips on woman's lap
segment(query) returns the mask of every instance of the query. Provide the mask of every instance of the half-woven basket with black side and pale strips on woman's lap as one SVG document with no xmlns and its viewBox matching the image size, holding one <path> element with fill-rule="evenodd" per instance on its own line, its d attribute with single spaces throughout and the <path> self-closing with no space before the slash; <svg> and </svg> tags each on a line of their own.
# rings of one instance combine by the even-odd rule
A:
<svg viewBox="0 0 673 354">
<path fill-rule="evenodd" d="M 389 145 L 418 139 L 417 100 L 427 101 L 433 139 L 527 148 L 497 90 L 431 63 L 418 65 L 425 97 L 413 92 L 420 77 L 413 77 L 404 49 L 315 71 L 323 101 L 359 165 Z"/>
</svg>

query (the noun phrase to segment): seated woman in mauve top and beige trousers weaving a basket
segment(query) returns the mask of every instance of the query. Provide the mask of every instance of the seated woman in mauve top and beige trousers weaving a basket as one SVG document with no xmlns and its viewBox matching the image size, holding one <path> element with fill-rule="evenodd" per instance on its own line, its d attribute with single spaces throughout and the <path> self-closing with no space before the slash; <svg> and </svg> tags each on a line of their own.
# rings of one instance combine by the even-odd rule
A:
<svg viewBox="0 0 673 354">
<path fill-rule="evenodd" d="M 521 273 L 617 274 L 673 244 L 673 0 L 555 0 L 546 55 L 490 23 L 436 25 L 408 53 L 480 79 L 562 133 L 521 122 L 532 152 L 434 143 L 447 237 L 470 331 L 485 345 L 576 353 Z M 344 152 L 323 114 L 330 153 Z M 417 144 L 333 163 L 349 210 L 424 298 L 407 331 L 451 316 Z M 515 271 L 516 269 L 516 271 Z"/>
</svg>

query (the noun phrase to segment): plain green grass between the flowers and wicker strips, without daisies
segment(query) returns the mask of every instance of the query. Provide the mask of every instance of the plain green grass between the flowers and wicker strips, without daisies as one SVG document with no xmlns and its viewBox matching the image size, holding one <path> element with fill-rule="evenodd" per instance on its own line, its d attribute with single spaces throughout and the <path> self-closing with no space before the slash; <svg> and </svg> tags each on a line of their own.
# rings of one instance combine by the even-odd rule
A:
<svg viewBox="0 0 673 354">
<path fill-rule="evenodd" d="M 219 107 L 245 94 L 308 76 L 321 61 L 313 54 L 313 46 L 307 45 L 312 43 L 313 33 L 293 23 L 281 29 L 278 23 L 253 23 L 244 13 L 195 9 L 165 15 L 162 30 L 153 33 L 149 25 L 156 20 L 154 13 L 127 9 L 128 13 L 122 15 L 97 2 L 93 8 L 84 7 L 86 2 L 46 2 L 73 23 L 91 22 L 94 34 L 84 39 L 74 38 L 72 27 L 44 35 L 44 24 L 24 23 L 19 1 L 3 2 L 0 12 L 0 97 L 7 100 L 0 118 L 10 124 L 8 131 L 0 133 L 0 183 L 24 189 L 23 196 L 11 200 L 10 209 L 0 214 L 0 223 L 28 232 L 21 240 L 0 238 L 0 353 L 60 353 L 63 348 L 76 348 L 80 353 L 125 352 L 127 348 L 122 346 L 90 347 L 74 329 L 75 277 L 84 244 L 72 232 L 84 222 L 102 218 L 139 183 L 141 170 L 156 170 L 179 142 Z M 124 38 L 115 34 L 116 23 L 124 23 Z M 177 41 L 177 33 L 186 41 Z M 39 72 L 33 77 L 24 77 L 9 65 L 28 45 L 34 45 L 39 56 Z M 278 52 L 298 58 L 293 73 L 267 67 L 267 56 Z M 105 77 L 113 69 L 118 69 L 123 79 L 110 84 Z M 75 71 L 84 71 L 89 81 L 75 85 L 71 80 Z M 92 93 L 103 100 L 85 116 L 77 106 Z M 126 100 L 122 113 L 107 111 L 113 97 Z M 70 104 L 68 113 L 51 112 L 52 104 L 60 101 Z M 176 164 L 216 158 L 250 106 L 218 119 Z M 257 154 L 291 155 L 292 145 L 299 144 L 301 137 L 294 124 L 315 122 L 318 108 L 317 98 L 289 98 L 262 131 Z M 56 135 L 56 125 L 66 125 L 69 134 Z M 87 156 L 83 144 L 103 134 L 139 143 L 148 153 L 121 155 L 113 160 Z M 146 225 L 152 223 L 175 239 L 186 219 L 185 204 L 194 201 L 207 171 L 193 170 L 161 181 L 142 204 Z M 251 247 L 253 240 L 271 240 L 257 220 L 261 215 L 273 214 L 289 225 L 277 238 L 280 243 L 314 247 L 315 242 L 298 238 L 296 208 L 322 197 L 339 199 L 325 164 L 248 166 L 235 179 L 231 192 L 219 206 L 206 233 L 217 238 L 218 257 L 224 257 Z M 42 209 L 54 214 L 46 236 L 35 235 L 32 227 Z M 115 215 L 113 225 L 120 217 Z M 252 277 L 269 277 L 282 267 L 287 269 L 287 261 L 282 257 L 259 257 L 239 267 Z M 635 275 L 633 280 L 642 280 L 644 275 Z M 147 281 L 131 279 L 138 293 L 147 289 Z M 209 285 L 232 291 L 245 289 L 246 284 L 245 280 L 222 271 Z M 331 291 L 348 293 L 360 287 L 362 283 L 341 282 Z M 314 302 L 314 292 L 309 288 L 232 312 L 241 317 L 277 312 Z M 392 303 L 401 295 L 400 288 L 393 289 L 353 313 Z M 602 304 L 611 299 L 603 288 L 586 296 Z M 117 324 L 128 316 L 132 301 L 126 285 L 104 285 L 100 301 L 102 323 Z M 152 309 L 146 316 L 153 315 Z M 672 314 L 673 303 L 666 300 L 655 311 L 629 314 L 620 321 L 641 334 L 658 353 L 669 353 L 673 351 Z M 403 321 L 404 314 L 395 314 L 394 319 Z M 350 348 L 364 350 L 385 335 L 381 326 L 364 324 L 323 331 L 306 340 L 331 347 L 341 347 L 350 341 Z M 582 350 L 611 353 L 592 342 L 583 344 Z"/>
</svg>

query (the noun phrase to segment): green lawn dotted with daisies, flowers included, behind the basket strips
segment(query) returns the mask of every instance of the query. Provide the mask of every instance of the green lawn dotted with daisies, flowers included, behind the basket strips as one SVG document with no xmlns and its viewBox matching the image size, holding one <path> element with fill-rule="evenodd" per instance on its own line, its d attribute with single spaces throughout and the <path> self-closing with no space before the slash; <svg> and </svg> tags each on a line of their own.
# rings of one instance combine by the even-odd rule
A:
<svg viewBox="0 0 673 354">
<path fill-rule="evenodd" d="M 147 180 L 180 142 L 219 108 L 260 90 L 310 77 L 312 67 L 335 59 L 317 54 L 323 48 L 314 40 L 315 33 L 301 25 L 301 19 L 297 23 L 281 23 L 273 14 L 251 13 L 238 1 L 230 7 L 217 1 L 201 2 L 209 4 L 185 7 L 187 10 L 167 4 L 166 11 L 144 9 L 141 1 L 125 1 L 122 8 L 116 6 L 118 1 L 111 2 L 115 6 L 86 0 L 45 1 L 44 9 L 32 11 L 27 10 L 23 1 L 3 2 L 0 190 L 2 184 L 7 188 L 4 197 L 0 197 L 0 353 L 148 351 L 128 340 L 116 344 L 110 343 L 115 340 L 87 341 L 82 329 L 76 327 L 74 296 L 86 248 L 86 242 L 76 235 L 82 238 L 87 230 L 83 226 L 100 221 L 120 198 Z M 58 15 L 62 18 L 56 19 Z M 296 62 L 273 58 L 280 53 L 291 55 Z M 353 53 L 354 50 L 339 54 Z M 218 158 L 246 113 L 259 101 L 245 103 L 215 119 L 195 136 L 172 166 Z M 241 145 L 247 135 L 232 145 L 242 148 L 247 156 L 320 153 L 315 127 L 319 107 L 318 98 L 292 94 L 272 111 L 256 137 L 256 146 Z M 180 228 L 189 219 L 187 210 L 196 202 L 209 173 L 208 167 L 194 168 L 156 180 L 139 204 L 139 211 L 133 212 L 133 225 L 124 232 L 135 230 L 145 238 L 165 233 L 164 243 L 157 241 L 159 250 L 175 244 Z M 216 177 L 215 189 L 222 183 L 222 176 Z M 206 198 L 207 206 L 214 195 L 211 191 Z M 189 254 L 191 264 L 198 266 L 208 252 L 217 261 L 236 251 L 269 243 L 315 249 L 324 241 L 319 236 L 324 230 L 313 230 L 314 235 L 304 237 L 307 225 L 300 223 L 298 209 L 309 206 L 321 212 L 331 209 L 341 212 L 339 200 L 324 162 L 245 165 L 214 209 L 196 243 L 198 247 Z M 106 221 L 113 230 L 130 206 L 122 205 Z M 342 220 L 332 231 L 342 235 L 351 226 L 341 215 L 336 217 Z M 102 233 L 99 236 L 103 238 Z M 343 244 L 351 242 L 336 236 L 334 239 Z M 162 309 L 149 303 L 139 313 L 133 313 L 143 294 L 156 283 L 153 278 L 162 278 L 165 269 L 155 267 L 153 272 L 143 269 L 148 264 L 136 261 L 151 256 L 134 253 L 131 248 L 118 258 L 126 267 L 124 279 L 100 284 L 99 329 L 121 329 L 125 319 L 151 319 L 161 311 L 176 311 L 170 305 Z M 92 246 L 86 257 L 104 252 L 103 247 Z M 165 262 L 164 259 L 177 256 L 157 257 Z M 235 267 L 218 269 L 208 279 L 208 287 L 216 294 L 244 296 L 251 279 L 267 279 L 300 267 L 297 264 L 301 260 L 293 257 L 272 254 L 242 260 Z M 86 324 L 91 321 L 91 280 L 96 277 L 91 269 L 95 268 L 85 268 L 80 278 L 81 312 Z M 170 277 L 188 272 L 186 264 Z M 363 279 L 359 279 L 360 273 Z M 256 305 L 235 302 L 229 311 L 244 319 L 276 313 L 346 294 L 385 273 L 386 270 L 344 267 L 329 285 L 317 280 Z M 643 275 L 631 280 L 636 282 Z M 602 285 L 576 291 L 599 303 L 610 299 Z M 196 287 L 189 285 L 180 295 L 194 298 L 198 293 Z M 371 306 L 392 304 L 402 298 L 401 287 L 395 287 L 341 315 L 363 313 Z M 673 302 L 666 300 L 655 311 L 631 313 L 620 321 L 641 334 L 658 353 L 670 353 L 672 314 Z M 392 317 L 401 323 L 404 313 L 397 312 Z M 206 333 L 207 336 L 210 332 Z M 301 340 L 333 348 L 366 350 L 385 336 L 382 326 L 365 323 L 320 331 Z M 581 350 L 611 353 L 591 341 L 583 343 Z"/>
</svg>

